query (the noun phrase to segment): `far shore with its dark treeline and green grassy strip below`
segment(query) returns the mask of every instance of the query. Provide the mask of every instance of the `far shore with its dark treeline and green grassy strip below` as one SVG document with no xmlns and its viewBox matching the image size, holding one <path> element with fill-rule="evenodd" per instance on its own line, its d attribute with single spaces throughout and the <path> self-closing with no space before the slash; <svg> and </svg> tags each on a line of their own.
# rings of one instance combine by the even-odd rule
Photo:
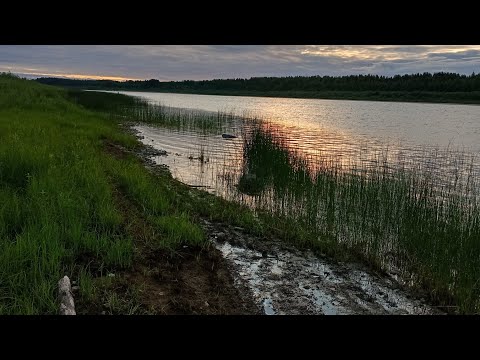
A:
<svg viewBox="0 0 480 360">
<path fill-rule="evenodd" d="M 253 77 L 217 80 L 73 80 L 39 78 L 38 82 L 89 90 L 158 91 L 218 95 L 252 95 L 299 98 L 385 101 L 480 103 L 480 74 Z"/>
</svg>

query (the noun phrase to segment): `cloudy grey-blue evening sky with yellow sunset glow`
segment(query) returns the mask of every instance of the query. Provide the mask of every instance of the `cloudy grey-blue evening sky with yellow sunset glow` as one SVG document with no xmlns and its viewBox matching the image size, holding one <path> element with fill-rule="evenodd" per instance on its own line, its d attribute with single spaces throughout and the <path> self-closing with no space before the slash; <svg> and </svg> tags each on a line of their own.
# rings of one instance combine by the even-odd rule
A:
<svg viewBox="0 0 480 360">
<path fill-rule="evenodd" d="M 480 45 L 0 45 L 27 78 L 210 80 L 480 72 Z"/>
</svg>

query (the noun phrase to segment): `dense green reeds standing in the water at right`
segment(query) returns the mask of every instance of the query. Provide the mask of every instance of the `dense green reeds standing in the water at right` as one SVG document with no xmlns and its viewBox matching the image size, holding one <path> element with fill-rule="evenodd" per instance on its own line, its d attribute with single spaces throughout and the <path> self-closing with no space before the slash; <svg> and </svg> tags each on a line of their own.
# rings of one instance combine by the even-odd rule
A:
<svg viewBox="0 0 480 360">
<path fill-rule="evenodd" d="M 439 302 L 479 311 L 480 184 L 473 155 L 437 150 L 429 161 L 394 163 L 383 153 L 345 165 L 306 158 L 265 124 L 249 126 L 238 190 L 253 197 L 255 208 L 293 221 L 319 248 L 348 248 L 431 290 Z"/>
</svg>

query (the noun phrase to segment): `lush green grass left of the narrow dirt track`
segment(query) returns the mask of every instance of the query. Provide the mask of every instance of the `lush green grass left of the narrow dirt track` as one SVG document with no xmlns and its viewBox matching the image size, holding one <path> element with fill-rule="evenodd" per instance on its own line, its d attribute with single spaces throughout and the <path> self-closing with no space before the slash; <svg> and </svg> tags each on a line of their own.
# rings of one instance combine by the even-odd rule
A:
<svg viewBox="0 0 480 360">
<path fill-rule="evenodd" d="M 105 123 L 61 91 L 0 78 L 0 302 L 7 313 L 56 312 L 64 266 L 84 253 L 128 265 L 121 215 L 95 152 Z"/>
</svg>

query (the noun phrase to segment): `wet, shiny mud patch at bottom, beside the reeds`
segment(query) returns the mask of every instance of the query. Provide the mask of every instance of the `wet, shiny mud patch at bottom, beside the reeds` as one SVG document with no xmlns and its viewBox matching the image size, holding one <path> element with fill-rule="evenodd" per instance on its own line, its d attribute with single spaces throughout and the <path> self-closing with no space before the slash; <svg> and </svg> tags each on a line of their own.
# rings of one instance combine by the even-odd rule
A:
<svg viewBox="0 0 480 360">
<path fill-rule="evenodd" d="M 128 131 L 138 136 L 131 126 Z M 145 145 L 136 155 L 152 171 L 166 170 L 154 161 L 156 156 L 168 156 L 164 150 Z M 224 279 L 239 297 L 230 301 L 242 304 L 242 309 L 224 309 L 222 313 L 442 314 L 399 284 L 394 276 L 374 273 L 358 263 L 318 257 L 308 249 L 254 236 L 247 229 L 229 224 L 202 219 L 202 226 L 214 245 L 209 251 L 224 260 L 216 262 L 216 271 L 218 266 L 225 267 L 229 276 Z"/>
</svg>

